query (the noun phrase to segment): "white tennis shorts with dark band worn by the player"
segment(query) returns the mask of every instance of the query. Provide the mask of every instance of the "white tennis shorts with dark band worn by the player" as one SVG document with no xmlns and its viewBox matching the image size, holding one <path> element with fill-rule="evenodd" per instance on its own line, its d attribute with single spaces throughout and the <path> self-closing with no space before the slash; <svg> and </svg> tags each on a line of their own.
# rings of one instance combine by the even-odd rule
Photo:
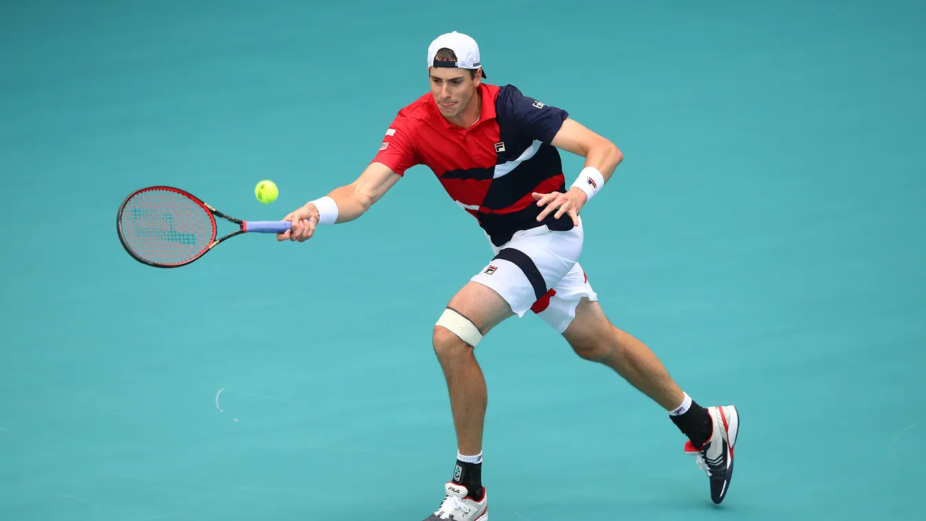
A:
<svg viewBox="0 0 926 521">
<path fill-rule="evenodd" d="M 583 239 L 582 217 L 568 231 L 519 231 L 501 247 L 490 242 L 494 258 L 470 280 L 492 288 L 519 317 L 531 310 L 562 333 L 582 297 L 598 300 L 579 266 Z"/>
</svg>

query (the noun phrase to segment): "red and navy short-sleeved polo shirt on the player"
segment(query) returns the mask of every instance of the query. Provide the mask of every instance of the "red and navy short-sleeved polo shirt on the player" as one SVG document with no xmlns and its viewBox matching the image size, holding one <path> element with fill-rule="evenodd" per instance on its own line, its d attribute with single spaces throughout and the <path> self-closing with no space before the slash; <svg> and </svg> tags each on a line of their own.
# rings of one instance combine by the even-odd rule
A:
<svg viewBox="0 0 926 521">
<path fill-rule="evenodd" d="M 551 144 L 569 114 L 525 96 L 512 86 L 479 86 L 482 108 L 468 129 L 441 115 L 431 93 L 395 116 L 373 159 L 395 173 L 430 167 L 447 194 L 479 220 L 495 246 L 520 229 L 572 228 L 553 213 L 537 222 L 543 207 L 532 192 L 565 192 L 562 161 Z"/>
</svg>

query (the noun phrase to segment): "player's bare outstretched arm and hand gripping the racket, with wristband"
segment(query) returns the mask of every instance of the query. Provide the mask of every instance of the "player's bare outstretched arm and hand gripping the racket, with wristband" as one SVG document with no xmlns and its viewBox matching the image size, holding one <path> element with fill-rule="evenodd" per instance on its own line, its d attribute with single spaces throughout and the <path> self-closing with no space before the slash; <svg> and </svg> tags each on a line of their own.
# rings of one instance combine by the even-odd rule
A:
<svg viewBox="0 0 926 521">
<path fill-rule="evenodd" d="M 277 240 L 303 242 L 315 234 L 319 222 L 352 221 L 366 213 L 401 178 L 382 163 L 370 163 L 354 182 L 335 188 L 325 197 L 308 202 L 284 217 L 283 220 L 292 221 L 293 226 L 277 234 Z"/>
</svg>

